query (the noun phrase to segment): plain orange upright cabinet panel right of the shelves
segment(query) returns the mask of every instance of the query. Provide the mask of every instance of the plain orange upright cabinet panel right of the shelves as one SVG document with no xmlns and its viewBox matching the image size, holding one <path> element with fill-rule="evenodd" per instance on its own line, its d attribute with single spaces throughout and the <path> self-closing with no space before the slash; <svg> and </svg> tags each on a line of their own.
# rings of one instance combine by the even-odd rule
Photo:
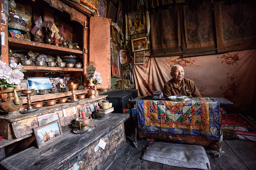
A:
<svg viewBox="0 0 256 170">
<path fill-rule="evenodd" d="M 102 17 L 90 17 L 89 57 L 88 60 L 96 63 L 96 71 L 102 76 L 102 85 L 96 88 L 111 88 L 111 20 Z"/>
</svg>

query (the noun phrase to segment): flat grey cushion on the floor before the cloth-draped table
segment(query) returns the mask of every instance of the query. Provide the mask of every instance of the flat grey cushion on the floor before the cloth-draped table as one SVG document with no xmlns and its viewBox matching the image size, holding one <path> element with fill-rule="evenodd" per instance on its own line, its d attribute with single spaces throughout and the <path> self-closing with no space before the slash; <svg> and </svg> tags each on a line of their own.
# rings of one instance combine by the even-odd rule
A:
<svg viewBox="0 0 256 170">
<path fill-rule="evenodd" d="M 210 169 L 204 147 L 198 145 L 154 142 L 147 147 L 142 159 L 175 167 Z"/>
</svg>

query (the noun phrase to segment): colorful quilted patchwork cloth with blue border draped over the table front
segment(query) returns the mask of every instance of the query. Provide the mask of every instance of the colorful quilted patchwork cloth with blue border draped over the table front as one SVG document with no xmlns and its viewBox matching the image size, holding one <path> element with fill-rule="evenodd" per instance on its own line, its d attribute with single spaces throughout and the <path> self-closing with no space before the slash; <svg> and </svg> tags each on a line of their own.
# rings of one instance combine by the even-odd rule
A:
<svg viewBox="0 0 256 170">
<path fill-rule="evenodd" d="M 214 98 L 189 102 L 137 100 L 138 125 L 145 133 L 184 134 L 220 139 L 220 108 Z"/>
</svg>

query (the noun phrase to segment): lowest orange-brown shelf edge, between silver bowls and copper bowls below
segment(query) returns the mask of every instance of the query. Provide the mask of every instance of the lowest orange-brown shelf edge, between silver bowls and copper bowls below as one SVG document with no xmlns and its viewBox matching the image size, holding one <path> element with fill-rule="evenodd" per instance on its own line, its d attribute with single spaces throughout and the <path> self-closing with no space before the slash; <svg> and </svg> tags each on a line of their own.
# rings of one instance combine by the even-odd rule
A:
<svg viewBox="0 0 256 170">
<path fill-rule="evenodd" d="M 86 90 L 76 90 L 76 95 L 86 94 L 87 91 L 88 91 L 88 89 L 86 89 Z M 71 94 L 72 94 L 71 91 L 58 92 L 58 93 L 55 93 L 55 94 L 52 94 L 52 93 L 49 92 L 49 94 L 45 94 L 45 95 L 36 94 L 35 96 L 31 96 L 30 100 L 31 100 L 31 102 L 37 102 L 37 101 L 43 101 L 43 100 L 58 99 L 58 98 L 61 98 L 61 97 L 71 96 Z M 26 96 L 20 96 L 19 98 L 23 102 L 23 104 L 27 103 Z"/>
</svg>

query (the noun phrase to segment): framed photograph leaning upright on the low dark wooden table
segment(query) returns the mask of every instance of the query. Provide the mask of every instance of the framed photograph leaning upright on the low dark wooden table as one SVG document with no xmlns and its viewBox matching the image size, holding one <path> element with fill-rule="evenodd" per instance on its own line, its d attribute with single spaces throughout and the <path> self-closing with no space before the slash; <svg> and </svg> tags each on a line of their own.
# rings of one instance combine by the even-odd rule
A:
<svg viewBox="0 0 256 170">
<path fill-rule="evenodd" d="M 59 121 L 33 128 L 33 131 L 38 148 L 45 146 L 48 143 L 53 142 L 59 137 L 63 136 Z"/>
</svg>

